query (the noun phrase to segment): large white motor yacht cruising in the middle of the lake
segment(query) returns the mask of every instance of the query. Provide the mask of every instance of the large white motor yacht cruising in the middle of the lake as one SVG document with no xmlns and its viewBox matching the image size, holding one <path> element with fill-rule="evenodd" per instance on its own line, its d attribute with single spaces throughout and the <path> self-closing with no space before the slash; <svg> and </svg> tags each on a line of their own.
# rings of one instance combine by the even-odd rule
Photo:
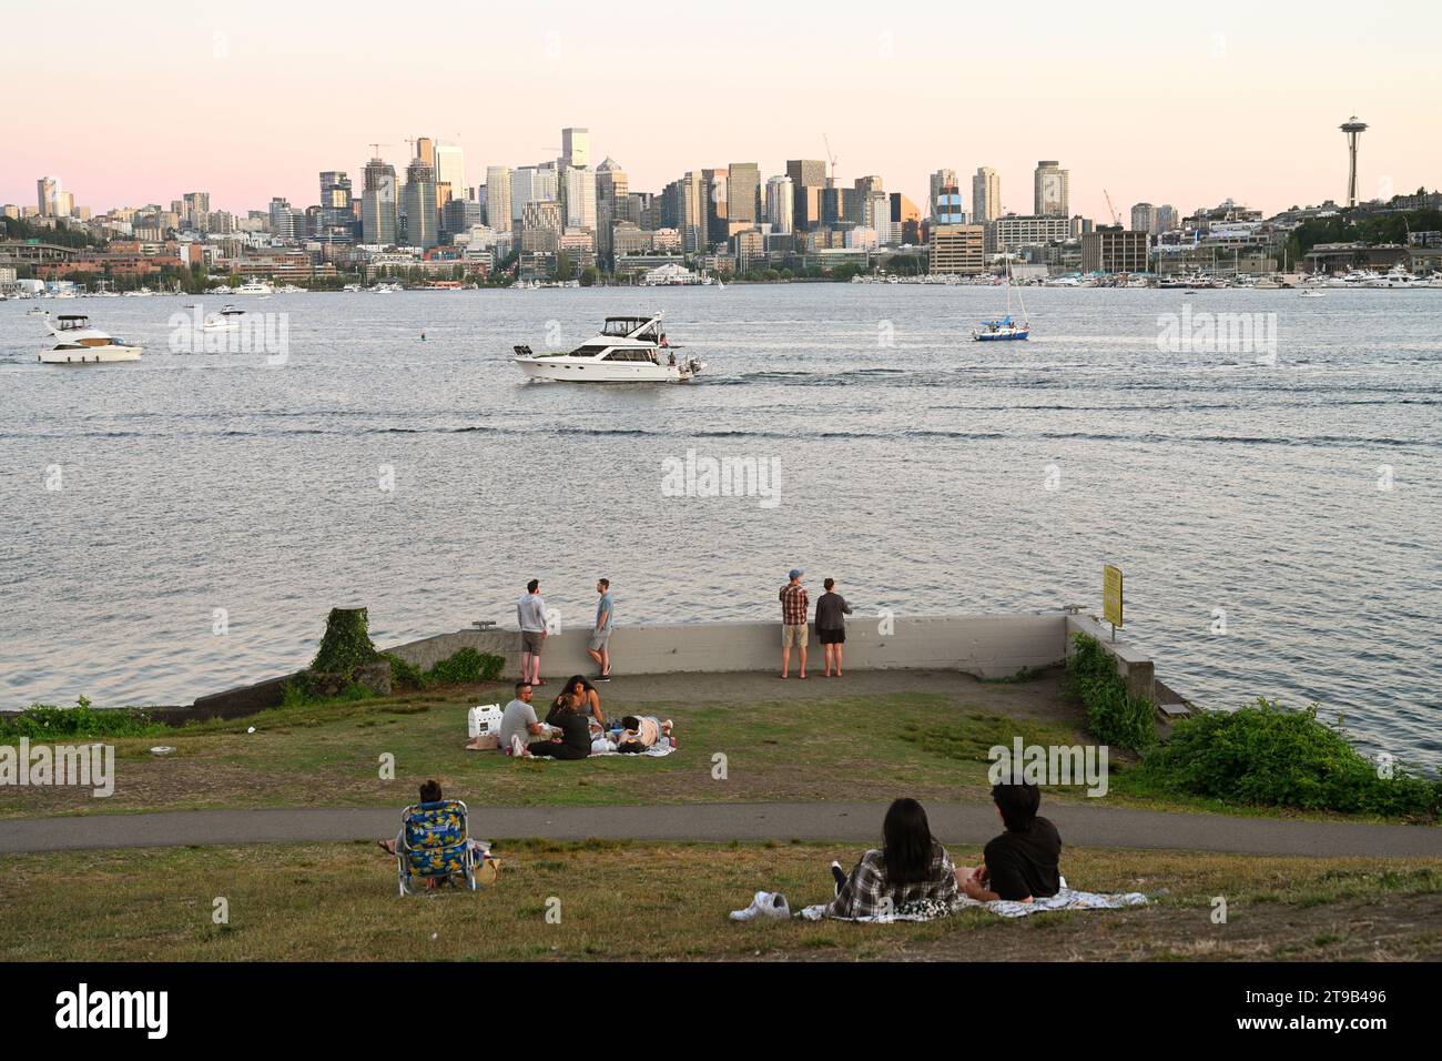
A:
<svg viewBox="0 0 1442 1061">
<path fill-rule="evenodd" d="M 516 346 L 515 362 L 528 380 L 570 383 L 688 383 L 705 365 L 679 358 L 655 316 L 609 316 L 601 333 L 570 352 L 534 354 Z"/>
</svg>

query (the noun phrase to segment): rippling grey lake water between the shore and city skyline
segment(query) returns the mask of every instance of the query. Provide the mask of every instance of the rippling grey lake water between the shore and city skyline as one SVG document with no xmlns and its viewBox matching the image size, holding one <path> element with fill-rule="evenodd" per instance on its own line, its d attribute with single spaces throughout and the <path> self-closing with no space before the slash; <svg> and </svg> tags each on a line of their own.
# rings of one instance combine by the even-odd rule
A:
<svg viewBox="0 0 1442 1061">
<path fill-rule="evenodd" d="M 1321 702 L 1368 748 L 1442 764 L 1442 290 L 1044 289 L 1031 342 L 970 342 L 1002 297 L 244 300 L 287 315 L 283 365 L 172 354 L 193 296 L 43 303 L 146 346 L 87 370 L 37 365 L 35 303 L 3 303 L 0 706 L 185 703 L 304 665 L 332 605 L 395 644 L 512 622 L 532 576 L 562 622 L 601 575 L 623 624 L 773 619 L 800 564 L 859 621 L 1099 611 L 1115 563 L 1128 637 L 1184 694 Z M 509 362 L 650 309 L 701 383 L 525 384 Z M 1184 313 L 1188 335 L 1275 315 L 1275 364 L 1159 351 Z M 665 497 L 688 450 L 779 460 L 774 504 Z"/>
</svg>

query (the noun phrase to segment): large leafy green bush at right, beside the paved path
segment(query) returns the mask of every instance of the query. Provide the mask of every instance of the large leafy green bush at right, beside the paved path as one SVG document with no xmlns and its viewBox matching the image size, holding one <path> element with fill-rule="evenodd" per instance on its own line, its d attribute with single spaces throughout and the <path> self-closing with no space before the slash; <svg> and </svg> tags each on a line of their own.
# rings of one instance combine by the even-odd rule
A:
<svg viewBox="0 0 1442 1061">
<path fill-rule="evenodd" d="M 1139 772 L 1167 791 L 1227 803 L 1384 817 L 1435 818 L 1442 810 L 1442 780 L 1400 767 L 1379 777 L 1345 730 L 1317 719 L 1317 704 L 1298 712 L 1259 699 L 1182 719 Z"/>
</svg>

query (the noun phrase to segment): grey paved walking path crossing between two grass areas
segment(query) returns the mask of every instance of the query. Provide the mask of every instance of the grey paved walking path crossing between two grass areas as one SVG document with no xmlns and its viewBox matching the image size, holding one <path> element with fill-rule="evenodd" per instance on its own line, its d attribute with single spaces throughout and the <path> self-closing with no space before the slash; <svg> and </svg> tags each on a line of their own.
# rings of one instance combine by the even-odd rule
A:
<svg viewBox="0 0 1442 1061">
<path fill-rule="evenodd" d="M 881 803 L 708 803 L 660 807 L 476 807 L 473 836 L 554 840 L 880 840 Z M 927 803 L 937 837 L 978 846 L 1001 831 L 991 804 Z M 1442 857 L 1442 829 L 1240 818 L 1051 804 L 1071 847 L 1154 847 L 1242 855 Z M 399 808 L 196 810 L 0 820 L 0 853 L 348 842 L 394 836 Z"/>
</svg>

